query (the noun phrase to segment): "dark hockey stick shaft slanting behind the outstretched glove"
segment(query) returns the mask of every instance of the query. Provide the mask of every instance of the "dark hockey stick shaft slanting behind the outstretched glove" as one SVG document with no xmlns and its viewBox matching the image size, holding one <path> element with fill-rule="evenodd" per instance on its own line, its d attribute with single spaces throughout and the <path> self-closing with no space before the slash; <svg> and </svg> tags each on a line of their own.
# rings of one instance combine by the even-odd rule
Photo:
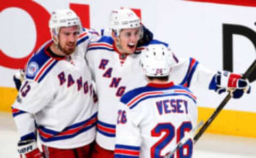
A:
<svg viewBox="0 0 256 158">
<path fill-rule="evenodd" d="M 249 78 L 249 79 L 252 78 L 252 76 L 254 75 L 253 72 L 255 72 L 255 71 L 256 71 L 256 60 L 254 60 L 254 62 L 251 64 L 251 66 L 246 70 L 246 72 L 243 74 L 242 78 Z M 253 82 L 254 80 L 255 80 L 255 78 L 253 78 L 253 80 L 251 80 L 251 82 Z M 232 97 L 232 94 L 231 94 L 231 92 L 229 92 L 228 95 L 226 96 L 226 98 L 220 103 L 218 108 L 213 112 L 212 116 L 205 122 L 203 127 L 197 132 L 197 134 L 194 137 L 194 144 L 202 136 L 204 131 L 210 126 L 211 122 L 215 119 L 215 117 L 217 117 L 219 112 L 223 109 L 223 107 L 231 99 L 231 97 Z"/>
</svg>

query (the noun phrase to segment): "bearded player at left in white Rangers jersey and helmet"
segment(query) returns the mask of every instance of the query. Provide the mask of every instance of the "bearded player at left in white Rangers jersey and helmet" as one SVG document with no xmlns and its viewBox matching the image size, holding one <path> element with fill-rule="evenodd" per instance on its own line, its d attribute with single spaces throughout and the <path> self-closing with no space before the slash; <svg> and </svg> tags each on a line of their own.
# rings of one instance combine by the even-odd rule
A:
<svg viewBox="0 0 256 158">
<path fill-rule="evenodd" d="M 38 129 L 46 157 L 89 157 L 98 110 L 84 60 L 92 34 L 81 32 L 79 17 L 69 9 L 54 11 L 49 27 L 52 40 L 29 59 L 12 105 L 18 152 L 21 157 L 43 157 L 36 143 Z"/>
</svg>

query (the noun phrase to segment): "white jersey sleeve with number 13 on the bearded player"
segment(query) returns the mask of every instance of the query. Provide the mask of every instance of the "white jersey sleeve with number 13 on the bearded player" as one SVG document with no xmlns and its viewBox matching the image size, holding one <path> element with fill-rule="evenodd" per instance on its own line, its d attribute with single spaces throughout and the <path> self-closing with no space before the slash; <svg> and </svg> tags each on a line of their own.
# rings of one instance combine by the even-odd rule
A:
<svg viewBox="0 0 256 158">
<path fill-rule="evenodd" d="M 54 97 L 51 79 L 47 75 L 40 83 L 29 79 L 22 82 L 17 99 L 12 105 L 12 115 L 21 141 L 36 138 L 34 114 L 47 106 Z"/>
</svg>

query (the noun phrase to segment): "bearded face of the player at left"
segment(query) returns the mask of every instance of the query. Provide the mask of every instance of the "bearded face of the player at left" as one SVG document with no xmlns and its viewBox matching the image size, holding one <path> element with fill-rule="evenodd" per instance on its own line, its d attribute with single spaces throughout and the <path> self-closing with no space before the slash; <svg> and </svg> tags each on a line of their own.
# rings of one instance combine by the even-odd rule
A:
<svg viewBox="0 0 256 158">
<path fill-rule="evenodd" d="M 79 38 L 79 27 L 63 27 L 59 33 L 59 47 L 63 55 L 70 55 L 76 49 L 76 42 Z"/>
</svg>

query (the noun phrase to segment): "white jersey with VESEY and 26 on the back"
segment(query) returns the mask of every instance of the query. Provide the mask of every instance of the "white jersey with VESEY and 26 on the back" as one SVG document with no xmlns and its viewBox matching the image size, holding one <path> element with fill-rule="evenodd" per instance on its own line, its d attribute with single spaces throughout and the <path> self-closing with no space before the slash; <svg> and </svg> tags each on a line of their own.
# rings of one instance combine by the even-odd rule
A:
<svg viewBox="0 0 256 158">
<path fill-rule="evenodd" d="M 173 82 L 139 87 L 119 104 L 115 157 L 163 157 L 196 126 L 196 96 Z M 191 158 L 190 139 L 175 153 Z"/>
</svg>

